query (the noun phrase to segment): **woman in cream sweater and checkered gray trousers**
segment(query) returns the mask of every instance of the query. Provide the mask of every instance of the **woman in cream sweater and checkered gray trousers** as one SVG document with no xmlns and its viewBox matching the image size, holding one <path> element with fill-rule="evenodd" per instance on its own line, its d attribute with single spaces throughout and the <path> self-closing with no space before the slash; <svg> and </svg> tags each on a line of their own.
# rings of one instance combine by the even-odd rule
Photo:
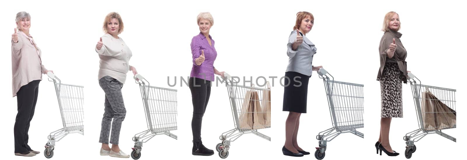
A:
<svg viewBox="0 0 467 160">
<path fill-rule="evenodd" d="M 96 44 L 99 54 L 99 86 L 104 90 L 104 116 L 102 118 L 99 143 L 102 143 L 100 155 L 129 158 L 119 146 L 120 129 L 127 110 L 123 103 L 121 88 L 125 83 L 127 72 L 137 74 L 136 69 L 128 62 L 132 56 L 130 48 L 118 35 L 123 31 L 123 22 L 116 12 L 109 13 L 103 24 L 104 36 Z M 112 122 L 113 119 L 113 122 Z M 109 134 L 112 148 L 109 147 Z"/>
</svg>

